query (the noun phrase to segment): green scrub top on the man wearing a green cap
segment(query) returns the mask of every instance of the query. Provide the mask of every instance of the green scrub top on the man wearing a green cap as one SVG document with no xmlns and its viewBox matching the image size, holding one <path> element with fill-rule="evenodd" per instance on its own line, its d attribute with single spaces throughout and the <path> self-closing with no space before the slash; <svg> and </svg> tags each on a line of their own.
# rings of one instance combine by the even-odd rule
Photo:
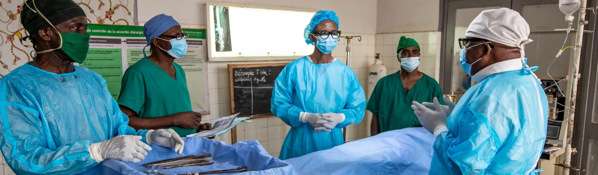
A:
<svg viewBox="0 0 598 175">
<path fill-rule="evenodd" d="M 434 78 L 424 73 L 413 88 L 405 92 L 401 76 L 396 72 L 380 78 L 365 109 L 378 116 L 380 133 L 422 127 L 413 113 L 412 102 L 432 102 L 434 97 L 438 97 L 441 105 L 446 105 L 442 100 L 443 92 L 440 85 Z"/>
</svg>

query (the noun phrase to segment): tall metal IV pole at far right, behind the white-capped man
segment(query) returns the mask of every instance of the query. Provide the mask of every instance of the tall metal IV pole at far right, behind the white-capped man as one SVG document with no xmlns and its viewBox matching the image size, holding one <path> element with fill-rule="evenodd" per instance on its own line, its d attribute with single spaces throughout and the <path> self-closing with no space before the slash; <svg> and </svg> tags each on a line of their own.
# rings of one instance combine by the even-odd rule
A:
<svg viewBox="0 0 598 175">
<path fill-rule="evenodd" d="M 563 164 L 556 164 L 560 167 L 563 167 L 563 175 L 569 175 L 570 170 L 576 171 L 585 171 L 579 167 L 573 167 L 571 165 L 571 155 L 572 153 L 577 152 L 575 148 L 571 148 L 571 140 L 573 138 L 573 118 L 575 118 L 575 99 L 577 97 L 577 82 L 579 79 L 579 57 L 581 57 L 581 45 L 582 45 L 582 38 L 584 37 L 584 25 L 588 22 L 585 20 L 585 11 L 586 10 L 596 10 L 596 8 L 585 8 L 587 0 L 581 0 L 581 5 L 579 6 L 579 21 L 577 23 L 577 32 L 575 36 L 575 46 L 573 46 L 573 79 L 571 81 L 571 91 L 570 91 L 570 99 L 569 99 L 569 121 L 567 127 L 567 138 L 566 138 L 566 146 L 565 146 L 565 161 Z"/>
</svg>

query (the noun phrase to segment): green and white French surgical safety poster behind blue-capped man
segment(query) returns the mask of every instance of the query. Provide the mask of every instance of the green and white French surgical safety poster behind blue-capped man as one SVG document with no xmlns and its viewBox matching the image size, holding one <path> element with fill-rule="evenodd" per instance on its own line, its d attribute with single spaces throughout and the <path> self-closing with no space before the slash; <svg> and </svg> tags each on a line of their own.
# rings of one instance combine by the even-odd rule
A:
<svg viewBox="0 0 598 175">
<path fill-rule="evenodd" d="M 127 67 L 144 57 L 147 45 L 142 26 L 112 26 L 89 24 L 87 32 L 91 35 L 87 60 L 80 66 L 99 73 L 108 84 L 108 91 L 115 100 L 120 93 L 123 73 Z M 189 33 L 187 54 L 175 62 L 185 69 L 187 85 L 191 96 L 191 106 L 196 112 L 209 113 L 208 65 L 206 60 L 206 30 L 183 29 Z M 146 48 L 149 56 L 149 47 Z"/>
</svg>

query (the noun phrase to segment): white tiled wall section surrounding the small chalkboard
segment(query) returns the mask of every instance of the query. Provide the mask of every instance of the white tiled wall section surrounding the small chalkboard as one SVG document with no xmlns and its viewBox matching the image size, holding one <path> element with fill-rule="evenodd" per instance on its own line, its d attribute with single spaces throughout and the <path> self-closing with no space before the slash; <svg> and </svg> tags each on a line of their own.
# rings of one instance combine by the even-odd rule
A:
<svg viewBox="0 0 598 175">
<path fill-rule="evenodd" d="M 357 36 L 361 34 L 343 33 L 343 36 Z M 351 40 L 350 67 L 355 71 L 362 87 L 367 90 L 367 71 L 373 64 L 375 35 L 361 35 L 361 41 Z M 332 56 L 341 62 L 346 62 L 346 39 L 340 38 L 337 47 L 332 51 Z M 230 89 L 228 88 L 228 64 L 248 63 L 288 63 L 292 60 L 282 61 L 255 61 L 255 62 L 208 62 L 208 79 L 210 93 L 210 115 L 203 116 L 203 121 L 212 122 L 221 116 L 230 115 Z M 347 141 L 358 140 L 366 137 L 369 130 L 365 127 L 369 118 L 359 124 L 352 124 L 347 127 Z M 282 142 L 291 129 L 282 120 L 275 116 L 269 118 L 252 119 L 252 122 L 245 122 L 237 125 L 237 142 L 242 140 L 258 140 L 261 145 L 274 157 L 278 157 Z M 366 132 L 367 130 L 367 132 Z M 215 140 L 231 143 L 231 134 L 216 137 Z"/>
</svg>

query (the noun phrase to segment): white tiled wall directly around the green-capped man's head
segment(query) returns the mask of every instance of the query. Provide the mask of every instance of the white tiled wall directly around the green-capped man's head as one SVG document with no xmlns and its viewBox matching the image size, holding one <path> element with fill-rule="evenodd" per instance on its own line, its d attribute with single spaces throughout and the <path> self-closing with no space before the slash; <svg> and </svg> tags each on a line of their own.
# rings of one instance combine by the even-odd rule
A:
<svg viewBox="0 0 598 175">
<path fill-rule="evenodd" d="M 421 56 L 418 70 L 438 81 L 440 73 L 440 32 L 383 33 L 376 35 L 376 53 L 386 66 L 388 74 L 401 70 L 396 59 L 396 47 L 401 36 L 413 38 L 419 44 Z"/>
</svg>

